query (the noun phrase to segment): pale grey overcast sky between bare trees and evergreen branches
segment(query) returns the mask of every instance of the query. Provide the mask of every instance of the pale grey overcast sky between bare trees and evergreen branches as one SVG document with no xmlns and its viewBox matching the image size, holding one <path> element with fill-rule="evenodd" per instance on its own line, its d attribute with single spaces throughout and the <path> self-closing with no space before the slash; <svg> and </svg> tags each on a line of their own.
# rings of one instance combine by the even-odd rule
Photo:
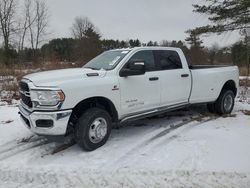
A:
<svg viewBox="0 0 250 188">
<path fill-rule="evenodd" d="M 71 37 L 76 16 L 87 16 L 102 38 L 184 40 L 187 29 L 208 23 L 205 16 L 193 13 L 192 4 L 203 0 L 47 0 L 50 9 L 51 38 Z M 236 33 L 204 37 L 205 45 L 231 44 Z"/>
</svg>

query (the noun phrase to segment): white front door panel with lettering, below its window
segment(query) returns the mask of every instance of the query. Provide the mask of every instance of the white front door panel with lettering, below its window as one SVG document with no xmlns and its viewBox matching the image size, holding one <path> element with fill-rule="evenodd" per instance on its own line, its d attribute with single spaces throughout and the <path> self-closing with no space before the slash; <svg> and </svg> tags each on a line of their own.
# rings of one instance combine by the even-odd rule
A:
<svg viewBox="0 0 250 188">
<path fill-rule="evenodd" d="M 157 72 L 144 75 L 119 77 L 122 116 L 147 111 L 160 106 L 160 82 L 150 82 Z"/>
</svg>

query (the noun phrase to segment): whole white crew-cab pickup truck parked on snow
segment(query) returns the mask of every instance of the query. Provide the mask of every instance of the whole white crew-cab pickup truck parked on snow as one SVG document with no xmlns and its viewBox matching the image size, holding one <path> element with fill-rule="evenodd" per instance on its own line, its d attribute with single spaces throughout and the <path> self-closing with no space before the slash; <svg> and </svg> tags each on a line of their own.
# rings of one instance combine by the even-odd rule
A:
<svg viewBox="0 0 250 188">
<path fill-rule="evenodd" d="M 117 49 L 82 68 L 24 76 L 19 113 L 32 132 L 73 132 L 77 143 L 92 151 L 122 122 L 197 103 L 229 114 L 238 83 L 236 66 L 188 66 L 178 48 Z"/>
</svg>

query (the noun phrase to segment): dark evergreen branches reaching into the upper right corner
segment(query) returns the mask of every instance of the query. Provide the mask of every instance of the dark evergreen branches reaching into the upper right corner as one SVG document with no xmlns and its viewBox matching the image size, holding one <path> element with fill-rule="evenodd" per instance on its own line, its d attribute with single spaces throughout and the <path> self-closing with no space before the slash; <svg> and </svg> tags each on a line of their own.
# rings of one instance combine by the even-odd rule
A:
<svg viewBox="0 0 250 188">
<path fill-rule="evenodd" d="M 196 34 L 222 33 L 250 28 L 249 0 L 206 0 L 204 5 L 195 4 L 194 12 L 209 16 L 210 25 L 197 27 Z"/>
</svg>

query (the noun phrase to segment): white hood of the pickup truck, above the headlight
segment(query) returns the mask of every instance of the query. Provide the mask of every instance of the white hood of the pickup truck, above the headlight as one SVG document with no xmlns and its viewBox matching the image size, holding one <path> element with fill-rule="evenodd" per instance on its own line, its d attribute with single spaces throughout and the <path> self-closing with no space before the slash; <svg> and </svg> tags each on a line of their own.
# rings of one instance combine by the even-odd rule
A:
<svg viewBox="0 0 250 188">
<path fill-rule="evenodd" d="M 84 79 L 91 77 L 104 77 L 106 75 L 105 70 L 91 70 L 85 68 L 70 68 L 53 71 L 44 71 L 39 73 L 33 73 L 24 76 L 33 82 L 35 86 L 58 86 L 65 81 L 74 79 Z"/>
</svg>

